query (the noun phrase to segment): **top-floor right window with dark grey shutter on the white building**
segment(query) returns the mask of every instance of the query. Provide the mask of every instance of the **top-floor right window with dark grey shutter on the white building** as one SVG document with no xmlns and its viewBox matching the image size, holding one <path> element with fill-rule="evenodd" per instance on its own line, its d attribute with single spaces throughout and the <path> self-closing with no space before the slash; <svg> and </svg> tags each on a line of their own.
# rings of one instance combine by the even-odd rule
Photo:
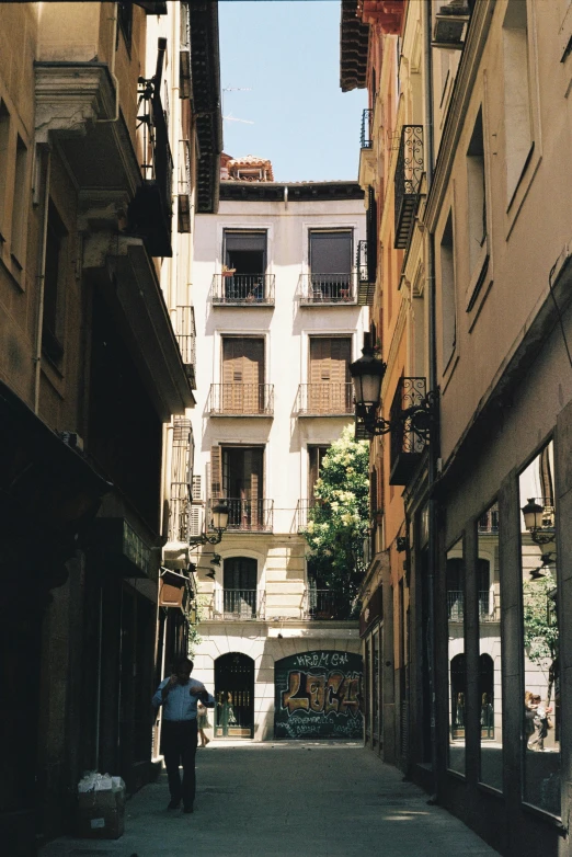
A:
<svg viewBox="0 0 572 857">
<path fill-rule="evenodd" d="M 310 289 L 322 300 L 343 300 L 352 286 L 351 229 L 310 231 Z"/>
</svg>

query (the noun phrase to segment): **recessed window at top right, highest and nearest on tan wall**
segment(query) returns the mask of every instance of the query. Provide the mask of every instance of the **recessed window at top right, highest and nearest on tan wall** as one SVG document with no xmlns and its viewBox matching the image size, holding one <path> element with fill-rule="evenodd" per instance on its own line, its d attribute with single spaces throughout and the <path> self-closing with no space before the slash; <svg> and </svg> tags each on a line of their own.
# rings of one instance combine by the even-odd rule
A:
<svg viewBox="0 0 572 857">
<path fill-rule="evenodd" d="M 503 22 L 504 129 L 508 202 L 533 146 L 526 0 L 508 0 Z"/>
</svg>

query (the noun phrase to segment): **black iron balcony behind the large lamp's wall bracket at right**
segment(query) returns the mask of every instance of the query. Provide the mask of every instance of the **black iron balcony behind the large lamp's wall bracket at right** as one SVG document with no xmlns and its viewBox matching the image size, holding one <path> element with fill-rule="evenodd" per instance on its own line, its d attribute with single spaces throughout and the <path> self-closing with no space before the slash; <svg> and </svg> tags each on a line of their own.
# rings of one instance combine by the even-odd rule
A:
<svg viewBox="0 0 572 857">
<path fill-rule="evenodd" d="M 407 485 L 413 475 L 426 442 L 413 431 L 411 418 L 400 415 L 409 408 L 420 404 L 425 398 L 425 378 L 400 378 L 390 410 L 390 485 Z"/>
</svg>

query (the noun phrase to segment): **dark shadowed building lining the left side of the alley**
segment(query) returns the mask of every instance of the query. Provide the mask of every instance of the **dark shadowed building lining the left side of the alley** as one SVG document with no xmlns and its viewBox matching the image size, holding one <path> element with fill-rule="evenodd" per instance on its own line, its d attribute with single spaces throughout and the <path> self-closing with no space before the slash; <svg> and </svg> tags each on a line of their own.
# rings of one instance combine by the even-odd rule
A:
<svg viewBox="0 0 572 857">
<path fill-rule="evenodd" d="M 152 775 L 164 426 L 194 404 L 173 268 L 193 206 L 218 202 L 216 43 L 216 3 L 0 5 L 0 837 L 18 857 L 70 830 L 85 769 L 128 791 Z"/>
</svg>

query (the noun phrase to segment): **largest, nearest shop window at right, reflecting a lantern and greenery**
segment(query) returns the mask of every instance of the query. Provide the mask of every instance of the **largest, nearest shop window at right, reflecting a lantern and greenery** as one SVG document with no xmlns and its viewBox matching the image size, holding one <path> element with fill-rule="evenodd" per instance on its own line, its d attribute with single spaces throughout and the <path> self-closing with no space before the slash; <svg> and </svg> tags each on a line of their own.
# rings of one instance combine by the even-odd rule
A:
<svg viewBox="0 0 572 857">
<path fill-rule="evenodd" d="M 519 478 L 523 580 L 524 800 L 560 815 L 560 681 L 553 449 Z"/>
</svg>

